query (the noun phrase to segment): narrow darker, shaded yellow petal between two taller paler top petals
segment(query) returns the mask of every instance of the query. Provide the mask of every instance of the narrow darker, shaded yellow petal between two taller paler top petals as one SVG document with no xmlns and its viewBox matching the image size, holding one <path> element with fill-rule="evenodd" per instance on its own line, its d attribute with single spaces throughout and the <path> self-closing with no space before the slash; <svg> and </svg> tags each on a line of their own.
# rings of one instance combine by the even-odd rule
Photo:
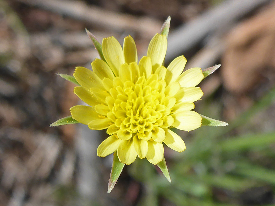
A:
<svg viewBox="0 0 275 206">
<path fill-rule="evenodd" d="M 130 35 L 124 38 L 123 53 L 126 63 L 138 62 L 137 47 L 134 39 Z"/>
</svg>

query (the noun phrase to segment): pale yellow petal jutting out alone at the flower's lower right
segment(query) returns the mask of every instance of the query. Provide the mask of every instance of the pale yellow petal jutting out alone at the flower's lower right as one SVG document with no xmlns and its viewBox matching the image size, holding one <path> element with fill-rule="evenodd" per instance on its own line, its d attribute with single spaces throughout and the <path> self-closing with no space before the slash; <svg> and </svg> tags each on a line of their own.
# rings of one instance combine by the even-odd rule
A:
<svg viewBox="0 0 275 206">
<path fill-rule="evenodd" d="M 165 130 L 165 139 L 163 142 L 169 146 L 172 150 L 177 152 L 182 152 L 186 149 L 185 143 L 180 136 L 178 136 L 175 132 L 171 131 L 170 129 Z"/>
</svg>

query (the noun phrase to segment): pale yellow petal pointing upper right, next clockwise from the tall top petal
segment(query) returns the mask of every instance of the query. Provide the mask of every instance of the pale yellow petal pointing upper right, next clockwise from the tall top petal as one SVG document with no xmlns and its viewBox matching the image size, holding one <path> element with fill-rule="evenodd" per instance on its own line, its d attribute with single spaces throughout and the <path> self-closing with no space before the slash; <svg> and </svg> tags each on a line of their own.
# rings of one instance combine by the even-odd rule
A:
<svg viewBox="0 0 275 206">
<path fill-rule="evenodd" d="M 186 62 L 187 60 L 184 56 L 179 56 L 169 64 L 165 76 L 165 81 L 167 85 L 178 78 L 178 76 L 182 73 Z"/>
</svg>

